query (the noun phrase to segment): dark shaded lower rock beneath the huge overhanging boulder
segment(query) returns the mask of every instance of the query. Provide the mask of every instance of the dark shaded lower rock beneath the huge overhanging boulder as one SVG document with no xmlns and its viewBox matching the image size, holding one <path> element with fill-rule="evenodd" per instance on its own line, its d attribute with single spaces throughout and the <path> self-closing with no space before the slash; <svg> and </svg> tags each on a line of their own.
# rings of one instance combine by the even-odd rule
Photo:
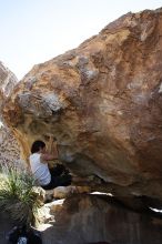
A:
<svg viewBox="0 0 162 244">
<path fill-rule="evenodd" d="M 54 221 L 42 232 L 43 244 L 161 244 L 162 220 L 128 211 L 111 199 L 75 195 L 62 207 L 51 207 L 51 214 Z"/>
</svg>

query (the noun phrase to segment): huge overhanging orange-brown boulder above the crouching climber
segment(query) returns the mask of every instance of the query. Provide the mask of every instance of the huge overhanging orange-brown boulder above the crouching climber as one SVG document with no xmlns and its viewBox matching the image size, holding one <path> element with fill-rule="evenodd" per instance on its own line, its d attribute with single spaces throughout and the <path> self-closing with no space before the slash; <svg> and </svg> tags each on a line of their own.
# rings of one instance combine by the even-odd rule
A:
<svg viewBox="0 0 162 244">
<path fill-rule="evenodd" d="M 34 65 L 3 106 L 28 156 L 58 141 L 60 160 L 114 194 L 162 197 L 162 9 L 128 13 Z M 92 180 L 93 183 L 93 180 Z"/>
</svg>

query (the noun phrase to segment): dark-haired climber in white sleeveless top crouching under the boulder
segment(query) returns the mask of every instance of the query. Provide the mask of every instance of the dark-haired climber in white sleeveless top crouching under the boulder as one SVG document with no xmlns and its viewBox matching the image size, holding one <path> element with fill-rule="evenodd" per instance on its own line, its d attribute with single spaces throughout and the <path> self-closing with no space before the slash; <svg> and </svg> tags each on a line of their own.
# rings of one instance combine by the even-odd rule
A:
<svg viewBox="0 0 162 244">
<path fill-rule="evenodd" d="M 57 186 L 71 184 L 71 175 L 63 164 L 57 164 L 50 169 L 50 161 L 58 159 L 57 146 L 53 152 L 48 153 L 43 141 L 34 141 L 29 157 L 31 172 L 42 189 L 52 190 Z"/>
</svg>

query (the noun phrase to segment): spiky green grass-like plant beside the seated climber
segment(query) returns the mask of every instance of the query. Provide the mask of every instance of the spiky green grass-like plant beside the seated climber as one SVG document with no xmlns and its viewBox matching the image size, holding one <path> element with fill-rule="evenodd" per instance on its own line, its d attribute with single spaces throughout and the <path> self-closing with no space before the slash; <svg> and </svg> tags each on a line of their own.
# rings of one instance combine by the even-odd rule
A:
<svg viewBox="0 0 162 244">
<path fill-rule="evenodd" d="M 42 202 L 34 192 L 34 179 L 27 171 L 3 166 L 0 173 L 0 210 L 18 224 L 34 225 Z"/>
</svg>

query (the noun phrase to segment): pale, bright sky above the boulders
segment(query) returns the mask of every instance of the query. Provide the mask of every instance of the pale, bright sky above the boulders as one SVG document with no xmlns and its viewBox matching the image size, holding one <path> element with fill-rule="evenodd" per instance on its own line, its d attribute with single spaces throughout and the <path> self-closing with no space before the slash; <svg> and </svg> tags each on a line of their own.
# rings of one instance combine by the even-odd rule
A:
<svg viewBox="0 0 162 244">
<path fill-rule="evenodd" d="M 162 0 L 0 0 L 0 60 L 21 79 L 120 16 L 160 7 Z"/>
</svg>

